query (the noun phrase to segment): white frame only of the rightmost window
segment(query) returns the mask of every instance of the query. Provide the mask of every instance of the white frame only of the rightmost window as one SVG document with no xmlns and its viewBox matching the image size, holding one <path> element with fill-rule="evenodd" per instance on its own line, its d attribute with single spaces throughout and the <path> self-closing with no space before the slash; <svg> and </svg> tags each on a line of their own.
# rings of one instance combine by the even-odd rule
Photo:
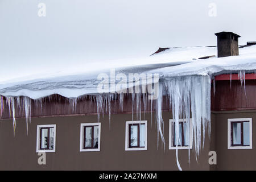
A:
<svg viewBox="0 0 256 182">
<path fill-rule="evenodd" d="M 249 121 L 250 126 L 250 146 L 232 146 L 231 144 L 231 122 Z M 228 149 L 253 149 L 253 119 L 252 118 L 229 118 L 228 119 Z"/>
</svg>

